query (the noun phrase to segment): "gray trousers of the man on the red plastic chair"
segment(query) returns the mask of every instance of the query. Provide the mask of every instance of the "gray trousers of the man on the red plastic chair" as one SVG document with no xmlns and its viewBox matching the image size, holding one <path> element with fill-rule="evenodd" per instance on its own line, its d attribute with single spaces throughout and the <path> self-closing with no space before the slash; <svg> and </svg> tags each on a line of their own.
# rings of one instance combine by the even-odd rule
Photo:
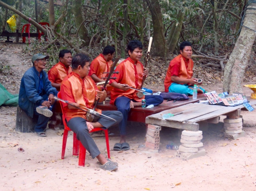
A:
<svg viewBox="0 0 256 191">
<path fill-rule="evenodd" d="M 111 117 L 116 121 L 110 121 L 108 119 L 100 118 L 98 122 L 103 126 L 102 128 L 108 129 L 109 127 L 118 124 L 122 119 L 123 115 L 120 111 L 102 111 L 103 115 Z M 67 122 L 67 126 L 76 133 L 76 138 L 80 140 L 85 149 L 91 154 L 94 159 L 100 155 L 98 146 L 95 144 L 93 138 L 89 134 L 86 120 L 82 117 L 74 117 Z"/>
</svg>

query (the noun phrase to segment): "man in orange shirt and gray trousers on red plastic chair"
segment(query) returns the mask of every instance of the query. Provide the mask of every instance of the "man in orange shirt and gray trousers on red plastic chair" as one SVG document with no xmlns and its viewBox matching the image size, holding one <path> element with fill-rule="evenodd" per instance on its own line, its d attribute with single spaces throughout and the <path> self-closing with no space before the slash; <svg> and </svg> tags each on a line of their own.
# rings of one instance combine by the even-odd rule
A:
<svg viewBox="0 0 256 191">
<path fill-rule="evenodd" d="M 89 57 L 84 54 L 77 54 L 72 59 L 73 72 L 67 75 L 61 84 L 61 97 L 63 100 L 71 102 L 76 107 L 93 108 L 95 100 L 100 99 L 102 102 L 106 98 L 106 91 L 99 91 L 95 86 L 93 79 L 89 74 L 90 62 Z M 99 118 L 96 122 L 87 121 L 87 113 L 79 110 L 76 107 L 69 104 L 63 104 L 63 112 L 65 113 L 67 126 L 76 133 L 76 137 L 85 149 L 91 154 L 91 157 L 95 157 L 102 164 L 100 168 L 104 170 L 117 170 L 117 163 L 106 159 L 99 151 L 93 138 L 89 132 L 94 127 L 111 127 L 119 123 L 123 116 L 119 111 L 96 111 L 101 112 L 103 115 L 111 117 L 116 121 L 110 121 L 106 118 Z M 84 106 L 84 107 L 82 107 Z M 102 116 L 102 115 L 101 115 Z"/>
</svg>

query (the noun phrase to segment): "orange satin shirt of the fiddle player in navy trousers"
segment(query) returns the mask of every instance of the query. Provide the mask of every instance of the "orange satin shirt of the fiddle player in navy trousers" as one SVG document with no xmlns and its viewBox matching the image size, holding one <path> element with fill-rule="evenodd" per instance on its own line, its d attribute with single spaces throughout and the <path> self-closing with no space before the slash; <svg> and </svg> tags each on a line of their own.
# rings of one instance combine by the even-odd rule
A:
<svg viewBox="0 0 256 191">
<path fill-rule="evenodd" d="M 115 72 L 119 72 L 119 74 L 113 74 L 111 77 L 116 77 L 117 79 L 111 79 L 109 81 L 109 84 L 116 81 L 117 83 L 121 84 L 128 84 L 129 86 L 132 86 L 133 88 L 140 89 L 141 83 L 143 79 L 143 65 L 141 62 L 137 61 L 137 64 L 128 57 L 123 62 L 121 62 L 117 68 L 115 69 Z M 121 96 L 125 96 L 130 99 L 134 99 L 137 102 L 141 102 L 145 98 L 138 98 L 137 97 L 137 90 L 134 89 L 128 89 L 127 91 L 123 91 L 121 89 L 113 88 L 111 90 L 111 100 L 110 104 L 115 103 L 115 99 Z"/>
</svg>

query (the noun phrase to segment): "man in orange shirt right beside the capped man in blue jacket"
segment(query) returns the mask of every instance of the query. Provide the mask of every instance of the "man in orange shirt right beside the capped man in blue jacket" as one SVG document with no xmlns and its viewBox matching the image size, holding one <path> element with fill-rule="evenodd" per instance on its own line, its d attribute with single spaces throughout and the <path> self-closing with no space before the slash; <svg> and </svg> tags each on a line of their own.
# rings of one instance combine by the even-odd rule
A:
<svg viewBox="0 0 256 191">
<path fill-rule="evenodd" d="M 72 53 L 71 51 L 64 49 L 59 53 L 60 61 L 55 64 L 48 71 L 48 78 L 52 83 L 52 87 L 55 87 L 58 91 L 60 91 L 61 82 L 63 79 L 72 72 L 71 61 L 72 61 Z"/>
</svg>

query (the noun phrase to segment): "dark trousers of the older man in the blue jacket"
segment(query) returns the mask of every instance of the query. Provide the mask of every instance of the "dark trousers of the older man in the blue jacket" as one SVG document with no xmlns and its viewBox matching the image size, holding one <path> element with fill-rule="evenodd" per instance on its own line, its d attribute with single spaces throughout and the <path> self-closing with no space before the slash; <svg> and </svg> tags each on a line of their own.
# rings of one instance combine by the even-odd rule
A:
<svg viewBox="0 0 256 191">
<path fill-rule="evenodd" d="M 43 100 L 48 100 L 47 94 L 43 95 L 42 97 Z M 47 123 L 50 120 L 50 117 L 46 117 L 44 115 L 39 114 L 36 110 L 38 106 L 40 105 L 34 104 L 34 115 L 38 115 L 37 124 L 35 125 L 35 132 L 44 132 L 44 130 L 47 127 Z M 49 109 L 52 110 L 53 107 L 54 105 L 52 105 L 52 107 L 50 107 Z"/>
</svg>

